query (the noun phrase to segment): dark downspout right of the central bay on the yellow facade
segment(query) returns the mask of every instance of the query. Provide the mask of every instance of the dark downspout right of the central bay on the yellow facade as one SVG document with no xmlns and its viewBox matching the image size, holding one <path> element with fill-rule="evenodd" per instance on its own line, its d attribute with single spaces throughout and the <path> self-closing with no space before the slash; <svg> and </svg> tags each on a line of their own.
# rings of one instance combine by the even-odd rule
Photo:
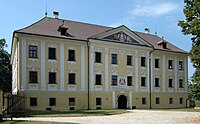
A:
<svg viewBox="0 0 200 124">
<path fill-rule="evenodd" d="M 151 54 L 154 52 L 154 49 L 153 49 L 153 51 L 150 51 L 149 52 L 149 109 L 151 109 L 151 59 L 153 59 L 153 58 L 151 58 Z"/>
</svg>

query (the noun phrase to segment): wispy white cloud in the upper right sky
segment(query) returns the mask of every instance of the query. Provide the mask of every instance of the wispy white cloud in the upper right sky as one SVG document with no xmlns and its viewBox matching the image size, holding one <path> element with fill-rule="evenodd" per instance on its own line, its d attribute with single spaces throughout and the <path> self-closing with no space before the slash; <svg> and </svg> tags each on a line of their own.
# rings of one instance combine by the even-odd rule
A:
<svg viewBox="0 0 200 124">
<path fill-rule="evenodd" d="M 172 11 L 175 11 L 178 8 L 178 5 L 175 3 L 148 3 L 148 4 L 137 4 L 133 6 L 133 9 L 130 10 L 130 14 L 133 16 L 162 16 L 168 14 Z"/>
</svg>

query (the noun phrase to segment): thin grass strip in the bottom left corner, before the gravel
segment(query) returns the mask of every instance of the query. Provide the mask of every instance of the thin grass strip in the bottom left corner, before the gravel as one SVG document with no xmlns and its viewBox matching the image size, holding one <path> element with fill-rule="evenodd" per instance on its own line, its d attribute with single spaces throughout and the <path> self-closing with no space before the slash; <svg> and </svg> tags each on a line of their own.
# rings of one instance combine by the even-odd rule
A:
<svg viewBox="0 0 200 124">
<path fill-rule="evenodd" d="M 75 124 L 68 122 L 45 122 L 45 121 L 3 121 L 1 124 Z"/>
</svg>

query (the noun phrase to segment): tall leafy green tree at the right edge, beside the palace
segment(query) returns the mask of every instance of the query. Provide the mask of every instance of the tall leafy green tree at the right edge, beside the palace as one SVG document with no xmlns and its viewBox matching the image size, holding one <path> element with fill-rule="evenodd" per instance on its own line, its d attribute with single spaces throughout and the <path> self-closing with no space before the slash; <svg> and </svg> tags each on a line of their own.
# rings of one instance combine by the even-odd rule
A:
<svg viewBox="0 0 200 124">
<path fill-rule="evenodd" d="M 196 70 L 191 77 L 191 92 L 196 100 L 200 100 L 200 0 L 184 0 L 184 3 L 183 12 L 186 18 L 179 21 L 178 25 L 182 28 L 183 34 L 192 36 L 189 57 Z"/>
</svg>

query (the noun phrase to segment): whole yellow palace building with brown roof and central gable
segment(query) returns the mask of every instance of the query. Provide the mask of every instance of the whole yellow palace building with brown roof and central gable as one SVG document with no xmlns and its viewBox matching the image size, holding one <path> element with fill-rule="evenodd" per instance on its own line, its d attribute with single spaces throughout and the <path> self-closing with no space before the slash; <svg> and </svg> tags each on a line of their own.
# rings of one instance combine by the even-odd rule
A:
<svg viewBox="0 0 200 124">
<path fill-rule="evenodd" d="M 16 30 L 13 94 L 30 110 L 186 107 L 188 53 L 148 31 L 57 16 Z"/>
</svg>

